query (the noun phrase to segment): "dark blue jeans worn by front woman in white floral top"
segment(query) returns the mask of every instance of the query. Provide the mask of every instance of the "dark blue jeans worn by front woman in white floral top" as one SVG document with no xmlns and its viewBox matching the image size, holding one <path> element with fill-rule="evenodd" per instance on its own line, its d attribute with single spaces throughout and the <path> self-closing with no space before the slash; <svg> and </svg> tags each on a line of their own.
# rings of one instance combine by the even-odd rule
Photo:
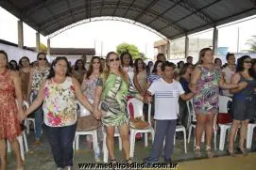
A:
<svg viewBox="0 0 256 170">
<path fill-rule="evenodd" d="M 73 166 L 73 142 L 77 124 L 66 127 L 44 126 L 57 167 Z"/>
</svg>

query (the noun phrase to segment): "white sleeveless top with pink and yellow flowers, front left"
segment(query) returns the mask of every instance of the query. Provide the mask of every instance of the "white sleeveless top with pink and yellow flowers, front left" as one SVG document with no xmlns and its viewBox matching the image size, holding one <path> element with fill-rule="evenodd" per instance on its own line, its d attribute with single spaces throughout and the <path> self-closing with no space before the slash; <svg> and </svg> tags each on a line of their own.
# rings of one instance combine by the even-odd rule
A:
<svg viewBox="0 0 256 170">
<path fill-rule="evenodd" d="M 43 89 L 43 120 L 50 127 L 71 126 L 77 123 L 75 86 L 67 77 L 62 84 L 47 80 Z"/>
</svg>

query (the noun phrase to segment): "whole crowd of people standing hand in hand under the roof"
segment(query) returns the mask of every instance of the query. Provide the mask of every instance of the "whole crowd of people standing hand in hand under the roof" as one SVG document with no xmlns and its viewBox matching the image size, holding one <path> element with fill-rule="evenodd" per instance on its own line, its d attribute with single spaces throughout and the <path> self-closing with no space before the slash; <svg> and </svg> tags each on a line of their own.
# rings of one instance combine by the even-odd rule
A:
<svg viewBox="0 0 256 170">
<path fill-rule="evenodd" d="M 83 129 L 77 123 L 81 118 L 77 114 L 77 100 L 100 122 L 96 127 L 99 141 L 102 141 L 101 127 L 105 127 L 112 163 L 118 162 L 113 145 L 115 127 L 122 139 L 125 160 L 132 162 L 128 134 L 129 120 L 133 116 L 128 115 L 127 101 L 136 98 L 145 102 L 145 120 L 148 119 L 148 103 L 151 103 L 153 118 L 150 121 L 154 124 L 155 136 L 144 162 L 153 163 L 159 162 L 161 154 L 164 162 L 172 162 L 176 126 L 188 129 L 186 100 L 191 99 L 196 111 L 196 157 L 201 156 L 201 138 L 205 132 L 206 153 L 208 158 L 213 158 L 212 136 L 218 97 L 228 96 L 233 100 L 228 152 L 235 156 L 234 136 L 240 127 L 239 149 L 246 154 L 247 124 L 256 116 L 256 61 L 244 55 L 236 62 L 234 54 L 230 53 L 226 59 L 227 64 L 222 65 L 221 59 L 214 59 L 211 48 L 204 48 L 196 64 L 192 56 L 186 58 L 186 63 L 179 61 L 176 65 L 166 61 L 164 54 L 158 54 L 155 62 L 146 65 L 142 58 L 133 61 L 128 52 L 120 56 L 110 52 L 106 58 L 94 56 L 88 67 L 84 58 L 78 59 L 72 67 L 64 56 L 49 63 L 46 54 L 39 53 L 33 63 L 27 56 L 17 63 L 8 61 L 8 54 L 0 51 L 1 170 L 7 167 L 6 139 L 14 150 L 17 169 L 24 169 L 16 137 L 22 131 L 20 123 L 31 115 L 35 118 L 34 145 L 42 145 L 42 131 L 45 131 L 57 168 L 71 169 L 75 133 L 77 127 Z M 23 110 L 24 100 L 30 105 L 26 111 Z M 88 147 L 92 146 L 92 141 L 90 136 L 86 137 Z"/>
</svg>

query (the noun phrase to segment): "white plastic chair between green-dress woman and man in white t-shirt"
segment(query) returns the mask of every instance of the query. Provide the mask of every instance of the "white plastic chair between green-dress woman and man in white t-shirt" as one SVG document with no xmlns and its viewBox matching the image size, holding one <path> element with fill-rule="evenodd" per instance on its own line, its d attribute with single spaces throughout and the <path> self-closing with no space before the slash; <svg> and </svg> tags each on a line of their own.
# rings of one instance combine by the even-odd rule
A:
<svg viewBox="0 0 256 170">
<path fill-rule="evenodd" d="M 144 116 L 143 114 L 143 105 L 144 103 L 141 100 L 137 100 L 135 98 L 128 100 L 128 105 L 132 104 L 133 106 L 133 110 L 134 110 L 134 118 L 138 117 L 138 116 Z M 128 107 L 127 105 L 127 107 Z M 130 115 L 130 111 L 128 108 L 128 114 Z M 154 142 L 154 135 L 155 135 L 155 131 L 151 126 L 151 104 L 148 104 L 148 112 L 147 112 L 147 117 L 148 117 L 148 123 L 149 123 L 149 127 L 145 130 L 139 130 L 139 129 L 134 129 L 130 127 L 130 134 L 129 134 L 129 142 L 130 142 L 130 149 L 129 149 L 129 157 L 133 157 L 134 155 L 134 147 L 135 147 L 135 136 L 138 132 L 140 133 L 145 133 L 145 147 L 148 146 L 147 143 L 147 133 L 150 132 L 151 136 L 152 136 L 152 143 Z"/>
</svg>

